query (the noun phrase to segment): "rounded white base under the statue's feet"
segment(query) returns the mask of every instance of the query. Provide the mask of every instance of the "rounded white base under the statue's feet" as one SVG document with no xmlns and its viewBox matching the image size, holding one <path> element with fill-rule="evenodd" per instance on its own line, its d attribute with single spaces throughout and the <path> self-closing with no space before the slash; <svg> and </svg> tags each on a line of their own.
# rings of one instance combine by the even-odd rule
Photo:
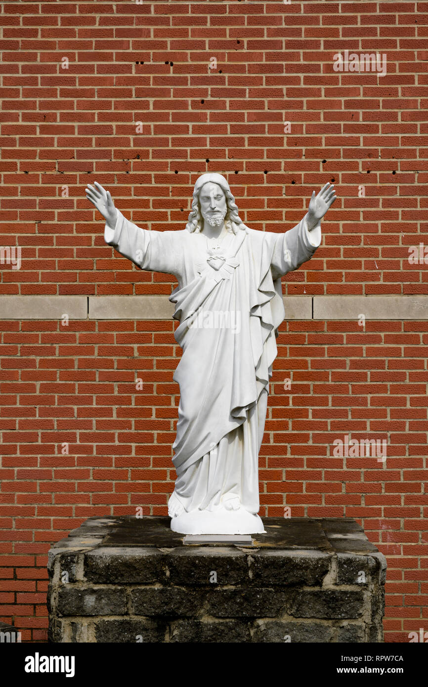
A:
<svg viewBox="0 0 428 687">
<path fill-rule="evenodd" d="M 172 532 L 180 534 L 264 534 L 262 520 L 244 508 L 192 510 L 171 519 Z"/>
</svg>

